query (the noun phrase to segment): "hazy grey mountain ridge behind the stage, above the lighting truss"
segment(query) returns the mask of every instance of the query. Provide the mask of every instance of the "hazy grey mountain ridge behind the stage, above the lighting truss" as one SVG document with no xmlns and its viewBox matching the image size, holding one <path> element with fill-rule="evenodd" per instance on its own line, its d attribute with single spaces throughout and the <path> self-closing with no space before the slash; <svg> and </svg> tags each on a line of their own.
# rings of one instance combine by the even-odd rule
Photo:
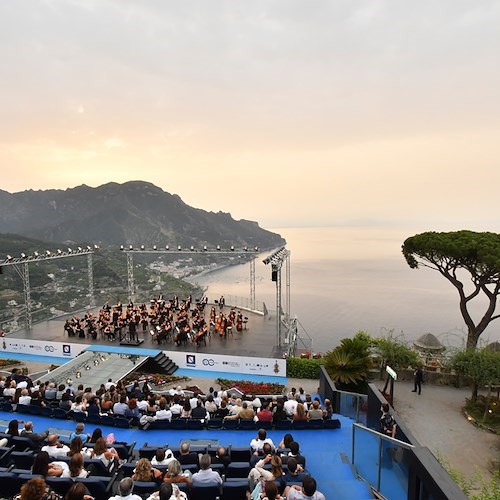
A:
<svg viewBox="0 0 500 500">
<path fill-rule="evenodd" d="M 0 233 L 107 247 L 234 245 L 267 250 L 285 243 L 257 222 L 190 207 L 179 196 L 142 181 L 19 193 L 0 190 Z"/>
</svg>

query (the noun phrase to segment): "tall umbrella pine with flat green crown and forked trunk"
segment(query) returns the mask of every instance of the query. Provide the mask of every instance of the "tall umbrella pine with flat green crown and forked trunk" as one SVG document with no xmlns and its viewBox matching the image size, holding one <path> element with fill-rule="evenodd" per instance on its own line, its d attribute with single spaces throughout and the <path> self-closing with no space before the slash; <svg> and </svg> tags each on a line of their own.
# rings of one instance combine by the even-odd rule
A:
<svg viewBox="0 0 500 500">
<path fill-rule="evenodd" d="M 424 266 L 439 271 L 458 290 L 460 312 L 468 329 L 467 347 L 476 347 L 486 327 L 500 317 L 495 314 L 500 293 L 500 234 L 427 232 L 406 239 L 402 250 L 412 269 Z M 462 271 L 469 273 L 471 288 L 466 288 Z M 470 303 L 477 297 L 486 299 L 479 321 L 470 312 Z"/>
</svg>

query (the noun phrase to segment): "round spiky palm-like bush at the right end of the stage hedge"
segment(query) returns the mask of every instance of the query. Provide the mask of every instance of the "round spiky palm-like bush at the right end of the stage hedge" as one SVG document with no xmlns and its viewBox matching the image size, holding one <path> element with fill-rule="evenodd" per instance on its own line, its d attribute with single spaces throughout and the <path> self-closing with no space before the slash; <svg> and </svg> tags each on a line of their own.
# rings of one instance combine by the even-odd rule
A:
<svg viewBox="0 0 500 500">
<path fill-rule="evenodd" d="M 370 337 L 358 332 L 325 354 L 325 368 L 340 389 L 355 391 L 366 385 L 371 364 L 369 348 Z"/>
</svg>

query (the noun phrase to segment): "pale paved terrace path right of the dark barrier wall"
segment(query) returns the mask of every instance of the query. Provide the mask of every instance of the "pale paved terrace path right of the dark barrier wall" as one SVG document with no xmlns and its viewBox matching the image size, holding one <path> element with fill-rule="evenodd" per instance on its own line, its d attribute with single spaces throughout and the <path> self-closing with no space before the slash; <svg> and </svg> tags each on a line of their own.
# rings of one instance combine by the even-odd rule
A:
<svg viewBox="0 0 500 500">
<path fill-rule="evenodd" d="M 412 382 L 396 382 L 394 406 L 420 444 L 466 477 L 478 470 L 487 474 L 490 463 L 500 459 L 500 437 L 463 416 L 461 409 L 471 390 L 424 385 L 419 396 L 412 389 Z"/>
</svg>

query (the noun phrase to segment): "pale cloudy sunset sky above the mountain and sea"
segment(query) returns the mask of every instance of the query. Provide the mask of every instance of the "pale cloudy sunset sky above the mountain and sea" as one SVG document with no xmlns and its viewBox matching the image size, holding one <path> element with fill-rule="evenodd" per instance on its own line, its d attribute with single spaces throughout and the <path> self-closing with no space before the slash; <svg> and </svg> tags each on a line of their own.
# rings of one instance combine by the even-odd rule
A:
<svg viewBox="0 0 500 500">
<path fill-rule="evenodd" d="M 496 0 L 0 2 L 0 189 L 498 232 L 499 26 Z"/>
</svg>

